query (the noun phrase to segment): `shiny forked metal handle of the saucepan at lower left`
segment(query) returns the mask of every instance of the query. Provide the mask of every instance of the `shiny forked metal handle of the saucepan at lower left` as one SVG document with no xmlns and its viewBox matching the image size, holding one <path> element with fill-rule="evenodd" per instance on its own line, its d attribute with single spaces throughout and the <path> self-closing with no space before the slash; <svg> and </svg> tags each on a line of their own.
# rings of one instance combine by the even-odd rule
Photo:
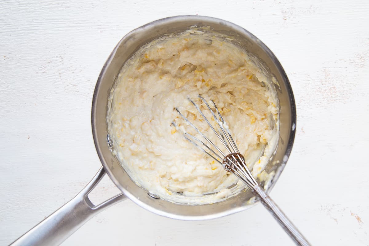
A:
<svg viewBox="0 0 369 246">
<path fill-rule="evenodd" d="M 104 175 L 104 168 L 101 167 L 90 183 L 79 194 L 30 231 L 24 233 L 11 245 L 59 245 L 93 216 L 126 199 L 127 197 L 121 193 L 99 205 L 94 205 L 90 201 L 88 198 L 89 193 Z"/>
</svg>

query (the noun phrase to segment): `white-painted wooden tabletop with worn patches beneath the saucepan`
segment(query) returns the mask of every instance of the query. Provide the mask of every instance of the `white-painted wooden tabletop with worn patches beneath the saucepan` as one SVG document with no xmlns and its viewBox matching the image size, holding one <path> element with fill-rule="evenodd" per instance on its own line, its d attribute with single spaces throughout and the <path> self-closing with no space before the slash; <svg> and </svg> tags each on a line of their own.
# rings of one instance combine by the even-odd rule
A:
<svg viewBox="0 0 369 246">
<path fill-rule="evenodd" d="M 115 44 L 180 14 L 223 18 L 276 54 L 292 84 L 297 133 L 271 195 L 313 245 L 369 245 L 368 1 L 0 2 L 0 245 L 72 198 L 100 163 L 90 107 Z M 117 192 L 106 179 L 102 200 Z M 176 221 L 127 200 L 63 245 L 292 245 L 258 205 Z"/>
</svg>

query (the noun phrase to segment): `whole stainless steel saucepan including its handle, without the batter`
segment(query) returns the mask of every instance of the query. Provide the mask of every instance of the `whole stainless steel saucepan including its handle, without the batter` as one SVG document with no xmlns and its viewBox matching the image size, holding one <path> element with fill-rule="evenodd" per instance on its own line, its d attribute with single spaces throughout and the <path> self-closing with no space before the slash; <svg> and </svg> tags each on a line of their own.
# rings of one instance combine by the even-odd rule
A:
<svg viewBox="0 0 369 246">
<path fill-rule="evenodd" d="M 18 238 L 12 245 L 58 245 L 94 215 L 126 198 L 155 214 L 182 220 L 218 218 L 243 211 L 254 204 L 249 202 L 254 197 L 249 190 L 214 204 L 185 205 L 162 200 L 137 186 L 111 153 L 112 146 L 108 141 L 106 124 L 108 96 L 124 62 L 142 45 L 165 34 L 183 32 L 192 26 L 210 27 L 214 32 L 232 37 L 238 45 L 257 57 L 270 75 L 275 77 L 274 86 L 280 105 L 280 137 L 276 152 L 265 168 L 268 173 L 275 172 L 267 192 L 273 188 L 290 155 L 296 128 L 294 97 L 283 67 L 265 44 L 238 25 L 197 15 L 169 17 L 148 23 L 125 35 L 115 46 L 101 70 L 93 94 L 91 112 L 93 139 L 102 163 L 96 176 L 76 197 Z M 94 205 L 88 195 L 105 173 L 122 193 Z M 263 181 L 260 183 L 263 185 Z"/>
</svg>

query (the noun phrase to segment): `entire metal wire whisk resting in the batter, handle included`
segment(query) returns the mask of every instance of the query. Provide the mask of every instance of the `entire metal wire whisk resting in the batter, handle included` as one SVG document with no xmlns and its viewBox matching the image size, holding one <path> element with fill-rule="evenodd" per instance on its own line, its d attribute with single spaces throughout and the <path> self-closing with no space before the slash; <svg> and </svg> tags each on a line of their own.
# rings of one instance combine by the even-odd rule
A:
<svg viewBox="0 0 369 246">
<path fill-rule="evenodd" d="M 215 122 L 217 123 L 219 130 L 215 130 L 213 125 L 210 124 L 209 120 L 205 117 L 204 113 L 200 110 L 200 107 L 194 103 L 193 100 L 188 98 L 188 100 L 194 105 L 194 107 L 199 111 L 200 115 L 209 125 L 209 127 L 214 131 L 215 135 L 220 139 L 221 143 L 224 145 L 225 149 L 228 153 L 224 153 L 220 148 L 218 148 L 213 142 L 211 142 L 200 130 L 195 127 L 176 107 L 176 111 L 179 115 L 187 122 L 192 128 L 196 130 L 197 133 L 202 136 L 208 144 L 201 141 L 199 138 L 187 133 L 183 132 L 184 138 L 190 141 L 193 145 L 197 148 L 201 149 L 203 152 L 207 153 L 211 156 L 215 161 L 220 163 L 223 168 L 233 173 L 238 179 L 242 180 L 251 190 L 252 193 L 255 195 L 256 198 L 264 205 L 266 209 L 273 215 L 276 221 L 279 223 L 280 226 L 284 229 L 284 231 L 290 236 L 290 238 L 296 243 L 296 245 L 303 245 L 307 246 L 310 245 L 308 241 L 304 238 L 304 236 L 297 230 L 297 228 L 292 224 L 292 222 L 287 218 L 287 216 L 282 212 L 282 210 L 275 204 L 272 198 L 266 194 L 265 190 L 258 184 L 255 180 L 254 176 L 252 176 L 251 171 L 248 169 L 245 163 L 244 156 L 239 153 L 239 150 L 234 142 L 231 133 L 229 131 L 227 123 L 224 121 L 220 111 L 218 110 L 217 106 L 215 105 L 214 101 L 211 100 L 211 103 L 214 106 L 215 112 L 218 114 L 218 117 L 215 115 L 214 111 L 211 109 L 210 105 L 207 101 L 199 95 L 199 98 L 203 103 L 205 103 L 208 110 L 213 115 Z M 173 126 L 177 128 L 176 123 L 172 122 Z M 204 148 L 203 148 L 204 147 Z M 214 150 L 215 149 L 215 150 Z"/>
</svg>

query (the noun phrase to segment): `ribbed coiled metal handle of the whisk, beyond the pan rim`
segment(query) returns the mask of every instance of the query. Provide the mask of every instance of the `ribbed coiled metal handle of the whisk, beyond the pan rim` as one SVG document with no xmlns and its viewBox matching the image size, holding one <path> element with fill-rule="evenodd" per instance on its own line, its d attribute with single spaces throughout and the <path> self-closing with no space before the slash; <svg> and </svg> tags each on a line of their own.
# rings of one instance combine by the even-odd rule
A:
<svg viewBox="0 0 369 246">
<path fill-rule="evenodd" d="M 278 205 L 266 194 L 265 190 L 260 186 L 255 186 L 253 193 L 264 205 L 266 209 L 273 215 L 276 221 L 284 229 L 284 231 L 290 236 L 290 238 L 296 243 L 296 245 L 310 246 L 310 243 L 304 238 L 304 236 L 297 230 L 292 222 L 287 218 Z"/>
</svg>

